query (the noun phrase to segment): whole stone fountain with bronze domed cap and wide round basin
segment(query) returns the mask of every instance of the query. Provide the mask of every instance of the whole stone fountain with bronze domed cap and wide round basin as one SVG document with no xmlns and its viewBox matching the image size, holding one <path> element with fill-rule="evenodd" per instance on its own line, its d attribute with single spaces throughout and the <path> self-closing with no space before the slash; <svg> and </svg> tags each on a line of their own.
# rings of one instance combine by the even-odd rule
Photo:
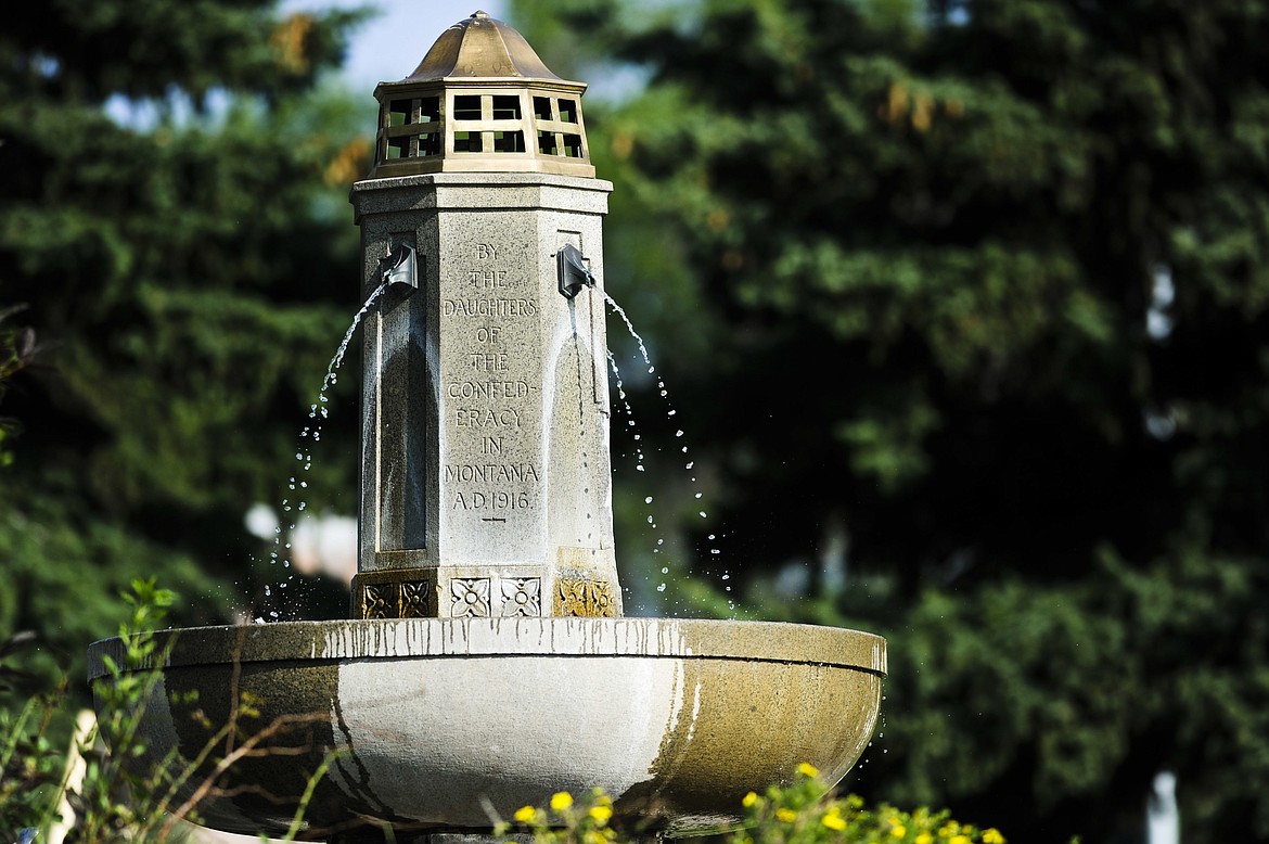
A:
<svg viewBox="0 0 1269 844">
<path fill-rule="evenodd" d="M 487 835 L 594 786 L 619 820 L 674 835 L 736 820 L 802 762 L 836 782 L 872 737 L 878 636 L 622 616 L 599 293 L 612 185 L 584 90 L 480 11 L 376 89 L 374 168 L 352 192 L 363 298 L 386 284 L 364 325 L 352 618 L 161 635 L 142 762 L 195 764 L 244 693 L 260 713 L 239 745 L 287 727 L 201 822 L 284 831 L 338 751 L 308 836 Z M 94 643 L 90 679 L 119 655 Z"/>
</svg>

